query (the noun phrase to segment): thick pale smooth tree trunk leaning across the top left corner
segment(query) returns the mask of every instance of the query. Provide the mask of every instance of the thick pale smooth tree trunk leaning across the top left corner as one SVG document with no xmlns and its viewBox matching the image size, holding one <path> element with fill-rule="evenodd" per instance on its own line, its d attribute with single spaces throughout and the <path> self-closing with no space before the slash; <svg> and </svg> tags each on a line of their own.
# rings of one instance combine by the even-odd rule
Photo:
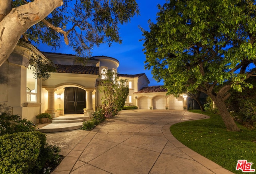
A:
<svg viewBox="0 0 256 174">
<path fill-rule="evenodd" d="M 22 34 L 62 4 L 62 0 L 35 0 L 13 8 L 4 16 L 0 21 L 0 66 L 8 59 Z"/>
</svg>

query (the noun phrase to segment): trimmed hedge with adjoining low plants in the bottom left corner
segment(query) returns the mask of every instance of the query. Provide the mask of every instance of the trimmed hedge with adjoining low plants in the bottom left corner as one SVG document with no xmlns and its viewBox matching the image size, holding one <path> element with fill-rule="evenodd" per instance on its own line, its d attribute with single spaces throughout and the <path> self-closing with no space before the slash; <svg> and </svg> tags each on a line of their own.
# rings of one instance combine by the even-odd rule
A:
<svg viewBox="0 0 256 174">
<path fill-rule="evenodd" d="M 41 174 L 48 166 L 60 163 L 60 149 L 48 145 L 41 132 L 5 134 L 0 142 L 1 174 Z"/>
</svg>

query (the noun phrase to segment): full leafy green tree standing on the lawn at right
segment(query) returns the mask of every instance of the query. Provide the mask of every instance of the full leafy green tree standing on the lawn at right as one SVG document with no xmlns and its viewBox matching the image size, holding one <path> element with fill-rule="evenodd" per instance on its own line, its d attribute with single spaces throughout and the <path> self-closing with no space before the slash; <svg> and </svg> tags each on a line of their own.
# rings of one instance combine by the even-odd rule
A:
<svg viewBox="0 0 256 174">
<path fill-rule="evenodd" d="M 206 93 L 227 130 L 238 131 L 225 101 L 230 88 L 252 87 L 244 80 L 256 72 L 255 0 L 170 0 L 157 15 L 142 29 L 145 68 L 168 93 Z"/>
</svg>

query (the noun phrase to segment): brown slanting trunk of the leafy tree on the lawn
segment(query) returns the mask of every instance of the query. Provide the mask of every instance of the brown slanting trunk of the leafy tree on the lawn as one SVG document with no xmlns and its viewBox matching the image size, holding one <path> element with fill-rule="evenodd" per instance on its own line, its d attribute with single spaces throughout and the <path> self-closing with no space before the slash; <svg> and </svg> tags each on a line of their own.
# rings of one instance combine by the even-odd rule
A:
<svg viewBox="0 0 256 174">
<path fill-rule="evenodd" d="M 228 131 L 240 131 L 240 129 L 237 127 L 235 121 L 232 119 L 230 113 L 228 112 L 228 109 L 226 107 L 226 104 L 221 99 L 218 99 L 217 97 L 213 100 L 218 107 L 219 113 L 222 117 L 222 120 L 224 121 L 227 130 Z"/>
</svg>

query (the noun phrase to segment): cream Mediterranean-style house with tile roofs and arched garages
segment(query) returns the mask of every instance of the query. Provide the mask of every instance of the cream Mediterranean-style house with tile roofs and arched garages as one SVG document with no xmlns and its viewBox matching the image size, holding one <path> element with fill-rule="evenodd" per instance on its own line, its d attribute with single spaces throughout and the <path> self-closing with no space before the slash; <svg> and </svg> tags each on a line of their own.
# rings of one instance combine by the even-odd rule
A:
<svg viewBox="0 0 256 174">
<path fill-rule="evenodd" d="M 49 79 L 34 78 L 28 63 L 31 52 L 26 46 L 16 46 L 0 67 L 0 104 L 10 106 L 13 114 L 33 123 L 37 123 L 39 113 L 58 117 L 57 109 L 64 109 L 65 115 L 84 113 L 85 107 L 86 111 L 95 111 L 102 103 L 98 86 L 100 78 L 104 78 L 102 73 L 108 69 L 118 72 L 119 61 L 112 57 L 94 56 L 84 66 L 75 62 L 75 55 L 40 52 L 35 47 L 33 50 L 57 65 L 56 72 Z M 126 105 L 138 106 L 139 109 L 179 110 L 186 106 L 186 98 L 166 95 L 166 89 L 160 86 L 148 87 L 150 81 L 144 73 L 118 76 L 128 79 Z"/>
</svg>

